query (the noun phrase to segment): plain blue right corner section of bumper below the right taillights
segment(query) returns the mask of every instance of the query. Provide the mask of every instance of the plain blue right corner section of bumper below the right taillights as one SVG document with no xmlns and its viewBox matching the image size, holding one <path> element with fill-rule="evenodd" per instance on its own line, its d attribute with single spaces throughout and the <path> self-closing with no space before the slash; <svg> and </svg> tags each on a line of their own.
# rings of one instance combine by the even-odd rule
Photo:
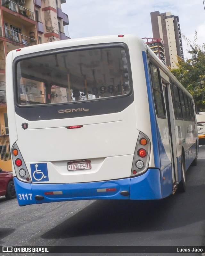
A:
<svg viewBox="0 0 205 256">
<path fill-rule="evenodd" d="M 130 199 L 152 200 L 161 199 L 161 177 L 159 169 L 148 169 L 138 177 L 131 178 Z"/>
</svg>

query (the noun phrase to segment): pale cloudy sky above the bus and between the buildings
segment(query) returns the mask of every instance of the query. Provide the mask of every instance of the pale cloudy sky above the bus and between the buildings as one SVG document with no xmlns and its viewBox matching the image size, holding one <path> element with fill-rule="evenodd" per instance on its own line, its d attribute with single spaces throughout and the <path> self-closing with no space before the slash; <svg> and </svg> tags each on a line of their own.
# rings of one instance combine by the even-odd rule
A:
<svg viewBox="0 0 205 256">
<path fill-rule="evenodd" d="M 71 39 L 134 34 L 153 37 L 150 13 L 171 12 L 179 16 L 182 34 L 194 45 L 205 43 L 205 0 L 66 0 L 62 11 L 68 14 L 65 34 Z M 190 47 L 182 39 L 184 57 L 189 58 Z"/>
</svg>

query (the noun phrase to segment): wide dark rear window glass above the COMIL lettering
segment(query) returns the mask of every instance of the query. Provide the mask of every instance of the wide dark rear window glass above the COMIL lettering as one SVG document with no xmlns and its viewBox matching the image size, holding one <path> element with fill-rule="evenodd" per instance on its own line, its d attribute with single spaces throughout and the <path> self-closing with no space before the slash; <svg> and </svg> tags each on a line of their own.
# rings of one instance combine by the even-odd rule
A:
<svg viewBox="0 0 205 256">
<path fill-rule="evenodd" d="M 93 48 L 20 60 L 17 89 L 21 106 L 126 95 L 130 92 L 126 51 Z"/>
</svg>

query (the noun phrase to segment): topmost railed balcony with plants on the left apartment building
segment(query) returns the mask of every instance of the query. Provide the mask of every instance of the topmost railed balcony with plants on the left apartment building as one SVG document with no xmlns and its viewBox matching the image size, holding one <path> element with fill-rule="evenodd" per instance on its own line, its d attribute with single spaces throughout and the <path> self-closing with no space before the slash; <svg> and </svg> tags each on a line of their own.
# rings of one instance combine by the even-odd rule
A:
<svg viewBox="0 0 205 256">
<path fill-rule="evenodd" d="M 34 21 L 34 13 L 31 12 L 29 9 L 26 9 L 22 7 L 21 5 L 18 5 L 10 0 L 1 0 L 2 6 L 8 8 L 9 10 L 19 13 L 22 16 L 27 17 L 30 20 Z"/>
</svg>

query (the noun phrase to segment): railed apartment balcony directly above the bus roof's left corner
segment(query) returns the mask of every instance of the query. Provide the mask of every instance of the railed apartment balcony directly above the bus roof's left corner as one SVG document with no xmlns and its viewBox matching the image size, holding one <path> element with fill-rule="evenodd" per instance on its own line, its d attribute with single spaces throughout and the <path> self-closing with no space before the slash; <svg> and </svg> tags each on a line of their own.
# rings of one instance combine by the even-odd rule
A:
<svg viewBox="0 0 205 256">
<path fill-rule="evenodd" d="M 24 46 L 37 44 L 37 40 L 32 37 L 27 37 L 25 35 L 22 35 L 20 33 L 17 33 L 5 28 L 4 28 L 4 32 L 5 32 L 5 38 L 11 40 L 14 43 L 22 43 Z"/>
</svg>

